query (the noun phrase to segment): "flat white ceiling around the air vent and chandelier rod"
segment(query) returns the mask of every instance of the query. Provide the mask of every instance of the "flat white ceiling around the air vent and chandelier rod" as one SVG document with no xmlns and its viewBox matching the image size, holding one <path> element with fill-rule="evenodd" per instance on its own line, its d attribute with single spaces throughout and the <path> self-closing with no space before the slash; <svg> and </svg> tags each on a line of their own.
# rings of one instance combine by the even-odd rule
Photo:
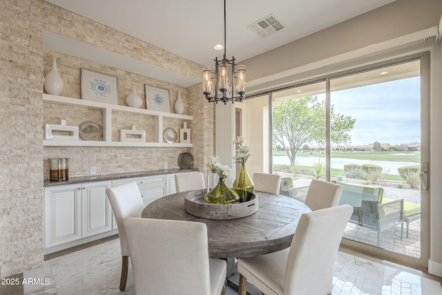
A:
<svg viewBox="0 0 442 295">
<path fill-rule="evenodd" d="M 223 51 L 222 0 L 46 0 L 78 15 L 213 66 Z M 238 61 L 300 39 L 395 0 L 227 0 L 227 58 Z M 249 28 L 269 15 L 284 27 L 260 37 Z"/>
</svg>

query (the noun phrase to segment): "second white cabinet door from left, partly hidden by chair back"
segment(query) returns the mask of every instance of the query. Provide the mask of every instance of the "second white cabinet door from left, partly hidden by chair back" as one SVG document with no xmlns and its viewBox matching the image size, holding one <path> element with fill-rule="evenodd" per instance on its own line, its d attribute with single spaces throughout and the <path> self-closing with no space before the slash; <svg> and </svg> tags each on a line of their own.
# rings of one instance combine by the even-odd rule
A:
<svg viewBox="0 0 442 295">
<path fill-rule="evenodd" d="M 111 182 L 84 183 L 81 189 L 82 236 L 93 236 L 112 229 L 111 204 L 106 189 Z"/>
</svg>

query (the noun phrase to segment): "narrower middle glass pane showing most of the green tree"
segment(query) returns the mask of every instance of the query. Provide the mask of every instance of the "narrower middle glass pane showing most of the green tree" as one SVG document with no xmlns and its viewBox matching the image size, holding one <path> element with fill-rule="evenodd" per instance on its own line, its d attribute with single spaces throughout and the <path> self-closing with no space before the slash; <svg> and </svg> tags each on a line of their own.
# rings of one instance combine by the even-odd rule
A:
<svg viewBox="0 0 442 295">
<path fill-rule="evenodd" d="M 325 81 L 272 93 L 273 172 L 280 193 L 304 201 L 312 178 L 325 180 Z"/>
</svg>

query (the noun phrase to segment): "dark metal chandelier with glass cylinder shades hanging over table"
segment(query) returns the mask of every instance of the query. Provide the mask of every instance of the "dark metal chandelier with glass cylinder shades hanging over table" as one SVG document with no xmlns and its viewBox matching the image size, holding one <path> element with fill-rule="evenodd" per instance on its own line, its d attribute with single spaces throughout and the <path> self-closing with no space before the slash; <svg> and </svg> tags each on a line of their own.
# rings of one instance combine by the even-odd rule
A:
<svg viewBox="0 0 442 295">
<path fill-rule="evenodd" d="M 224 55 L 222 60 L 218 57 L 213 59 L 215 61 L 215 72 L 210 67 L 204 67 L 202 71 L 202 88 L 203 94 L 206 96 L 208 102 L 219 101 L 224 102 L 242 102 L 246 94 L 246 66 L 238 66 L 236 70 L 235 57 L 232 59 L 226 58 L 226 0 L 224 0 Z M 231 71 L 229 72 L 229 65 Z M 235 78 L 236 78 L 236 92 L 235 92 Z M 231 83 L 231 93 L 229 94 L 229 83 Z M 231 95 L 231 97 L 229 97 Z M 235 96 L 237 95 L 237 96 Z"/>
</svg>

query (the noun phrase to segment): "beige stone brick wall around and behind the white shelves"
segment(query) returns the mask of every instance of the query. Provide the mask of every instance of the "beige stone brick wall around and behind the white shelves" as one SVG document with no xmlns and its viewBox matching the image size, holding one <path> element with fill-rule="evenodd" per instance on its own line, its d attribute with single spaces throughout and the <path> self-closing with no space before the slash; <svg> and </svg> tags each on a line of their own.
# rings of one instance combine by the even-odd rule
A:
<svg viewBox="0 0 442 295">
<path fill-rule="evenodd" d="M 80 17 L 43 0 L 3 0 L 0 2 L 0 276 L 39 267 L 44 249 L 44 188 L 48 178 L 48 158 L 70 158 L 70 176 L 88 175 L 89 166 L 99 174 L 162 169 L 177 166 L 177 156 L 191 152 L 195 166 L 204 169 L 206 158 L 214 150 L 214 113 L 204 104 L 201 86 L 189 89 L 148 77 L 127 73 L 90 61 L 44 50 L 44 30 L 93 44 L 115 53 L 140 59 L 149 64 L 200 79 L 202 66 L 146 44 L 122 32 Z M 168 88 L 173 106 L 177 93 L 185 104 L 193 149 L 42 146 L 44 123 L 66 119 L 76 125 L 84 120 L 102 120 L 102 114 L 78 107 L 55 107 L 44 103 L 44 76 L 52 68 L 52 57 L 64 79 L 61 95 L 81 98 L 80 68 L 113 75 L 118 79 L 119 104 L 133 86 L 144 97 L 144 84 Z M 145 107 L 145 104 L 142 106 Z M 117 119 L 115 119 L 117 120 Z M 118 126 L 140 129 L 152 122 L 141 118 L 119 117 Z M 175 130 L 178 120 L 167 121 Z M 138 127 L 137 127 L 138 128 Z M 118 137 L 115 131 L 113 137 Z"/>
</svg>

